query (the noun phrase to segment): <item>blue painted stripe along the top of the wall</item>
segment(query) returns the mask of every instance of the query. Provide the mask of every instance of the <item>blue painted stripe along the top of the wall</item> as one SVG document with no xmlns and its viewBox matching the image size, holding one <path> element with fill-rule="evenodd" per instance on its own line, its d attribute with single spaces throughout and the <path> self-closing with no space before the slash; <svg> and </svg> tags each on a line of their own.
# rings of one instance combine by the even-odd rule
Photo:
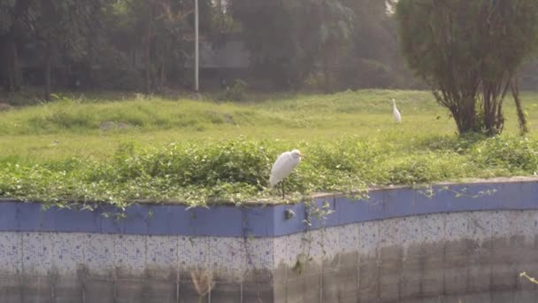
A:
<svg viewBox="0 0 538 303">
<path fill-rule="evenodd" d="M 440 190 L 443 186 L 434 186 Z M 456 197 L 457 192 L 466 195 Z M 537 182 L 471 183 L 450 185 L 450 190 L 427 198 L 409 188 L 373 190 L 367 200 L 336 196 L 316 198 L 318 206 L 327 203 L 333 214 L 327 221 L 311 218 L 304 223 L 304 204 L 275 206 L 211 206 L 187 209 L 181 205 L 134 205 L 126 210 L 126 219 L 105 218 L 116 212 L 111 206 L 100 206 L 94 212 L 58 209 L 42 210 L 39 203 L 0 200 L 0 231 L 88 232 L 135 235 L 183 235 L 192 237 L 279 237 L 318 229 L 322 223 L 338 226 L 420 214 L 480 210 L 538 209 Z M 469 197 L 480 191 L 496 190 L 491 195 Z M 295 216 L 286 219 L 286 210 Z"/>
</svg>

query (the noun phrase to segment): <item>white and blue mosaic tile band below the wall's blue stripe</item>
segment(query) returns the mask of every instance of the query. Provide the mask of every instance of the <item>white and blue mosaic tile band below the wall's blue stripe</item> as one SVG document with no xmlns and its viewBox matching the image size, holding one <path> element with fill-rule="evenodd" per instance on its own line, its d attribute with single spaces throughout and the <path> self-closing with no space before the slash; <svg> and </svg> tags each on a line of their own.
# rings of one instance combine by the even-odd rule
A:
<svg viewBox="0 0 538 303">
<path fill-rule="evenodd" d="M 0 275 L 186 275 L 205 268 L 215 280 L 241 282 L 252 269 L 293 267 L 299 255 L 314 262 L 339 253 L 375 255 L 386 246 L 442 243 L 463 238 L 538 235 L 538 211 L 444 213 L 311 230 L 284 237 L 182 237 L 119 234 L 1 232 Z"/>
</svg>

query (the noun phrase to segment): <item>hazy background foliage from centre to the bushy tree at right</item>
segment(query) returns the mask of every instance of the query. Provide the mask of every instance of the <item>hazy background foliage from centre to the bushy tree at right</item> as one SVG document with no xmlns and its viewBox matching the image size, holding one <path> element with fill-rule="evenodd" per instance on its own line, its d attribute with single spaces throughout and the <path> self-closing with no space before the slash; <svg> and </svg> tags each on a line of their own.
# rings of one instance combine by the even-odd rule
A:
<svg viewBox="0 0 538 303">
<path fill-rule="evenodd" d="M 258 75 L 283 88 L 416 85 L 404 69 L 394 19 L 376 0 L 231 0 Z"/>
</svg>

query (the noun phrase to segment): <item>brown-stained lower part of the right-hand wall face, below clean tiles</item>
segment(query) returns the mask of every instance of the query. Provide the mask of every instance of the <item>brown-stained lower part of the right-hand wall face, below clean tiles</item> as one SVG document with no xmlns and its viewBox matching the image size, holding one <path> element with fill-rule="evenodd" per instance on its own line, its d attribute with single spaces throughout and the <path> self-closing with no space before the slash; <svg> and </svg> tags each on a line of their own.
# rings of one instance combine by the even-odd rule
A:
<svg viewBox="0 0 538 303">
<path fill-rule="evenodd" d="M 344 253 L 324 261 L 317 275 L 287 268 L 286 296 L 274 302 L 536 302 L 538 286 L 519 278 L 523 268 L 538 269 L 535 243 L 496 237 Z"/>
</svg>

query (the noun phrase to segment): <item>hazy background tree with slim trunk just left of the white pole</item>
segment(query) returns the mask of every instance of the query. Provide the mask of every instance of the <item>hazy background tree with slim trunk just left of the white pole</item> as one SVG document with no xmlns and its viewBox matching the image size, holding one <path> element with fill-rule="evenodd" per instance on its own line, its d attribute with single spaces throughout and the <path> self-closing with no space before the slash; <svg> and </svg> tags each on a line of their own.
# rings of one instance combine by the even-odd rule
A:
<svg viewBox="0 0 538 303">
<path fill-rule="evenodd" d="M 200 30 L 211 33 L 211 0 L 199 5 Z M 116 47 L 122 51 L 141 50 L 145 93 L 162 90 L 171 67 L 182 67 L 194 50 L 194 2 L 117 0 L 109 11 L 111 43 L 121 41 Z"/>
</svg>

